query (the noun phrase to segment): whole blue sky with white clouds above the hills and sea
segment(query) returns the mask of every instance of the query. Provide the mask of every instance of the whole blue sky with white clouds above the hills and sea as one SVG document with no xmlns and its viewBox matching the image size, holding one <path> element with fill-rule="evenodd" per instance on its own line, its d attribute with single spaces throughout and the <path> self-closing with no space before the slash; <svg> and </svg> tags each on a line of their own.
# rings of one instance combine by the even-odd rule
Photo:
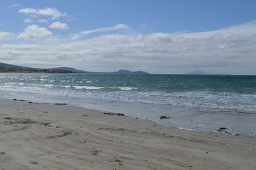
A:
<svg viewBox="0 0 256 170">
<path fill-rule="evenodd" d="M 254 0 L 1 0 L 0 62 L 256 75 Z"/>
</svg>

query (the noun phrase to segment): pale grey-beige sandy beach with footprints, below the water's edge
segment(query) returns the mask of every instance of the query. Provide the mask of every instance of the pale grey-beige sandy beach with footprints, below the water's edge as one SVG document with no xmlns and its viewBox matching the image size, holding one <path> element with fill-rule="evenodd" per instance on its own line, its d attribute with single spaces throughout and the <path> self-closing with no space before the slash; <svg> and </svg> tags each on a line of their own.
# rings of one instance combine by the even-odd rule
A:
<svg viewBox="0 0 256 170">
<path fill-rule="evenodd" d="M 0 100 L 0 169 L 256 169 L 256 137 Z"/>
</svg>

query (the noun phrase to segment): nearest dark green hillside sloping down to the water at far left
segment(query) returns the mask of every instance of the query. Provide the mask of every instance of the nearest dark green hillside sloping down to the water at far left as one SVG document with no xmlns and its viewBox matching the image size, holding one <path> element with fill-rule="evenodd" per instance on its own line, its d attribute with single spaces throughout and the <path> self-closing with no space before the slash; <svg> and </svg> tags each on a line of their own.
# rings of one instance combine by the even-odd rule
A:
<svg viewBox="0 0 256 170">
<path fill-rule="evenodd" d="M 43 68 L 31 68 L 26 66 L 9 65 L 6 63 L 0 63 L 0 72 L 43 72 L 43 73 L 72 73 L 68 70 L 60 69 L 43 69 Z"/>
</svg>

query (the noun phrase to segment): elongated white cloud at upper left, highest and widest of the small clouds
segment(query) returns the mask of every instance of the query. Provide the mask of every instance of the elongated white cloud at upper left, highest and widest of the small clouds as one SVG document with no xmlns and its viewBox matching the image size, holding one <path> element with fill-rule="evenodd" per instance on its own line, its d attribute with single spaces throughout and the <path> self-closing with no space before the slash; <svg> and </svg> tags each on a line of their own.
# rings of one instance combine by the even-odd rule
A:
<svg viewBox="0 0 256 170">
<path fill-rule="evenodd" d="M 43 15 L 47 17 L 52 17 L 52 20 L 58 19 L 60 17 L 67 17 L 67 13 L 62 13 L 56 8 L 43 8 L 43 9 L 35 9 L 35 8 L 22 8 L 19 10 L 19 13 L 24 13 L 26 15 Z"/>
</svg>

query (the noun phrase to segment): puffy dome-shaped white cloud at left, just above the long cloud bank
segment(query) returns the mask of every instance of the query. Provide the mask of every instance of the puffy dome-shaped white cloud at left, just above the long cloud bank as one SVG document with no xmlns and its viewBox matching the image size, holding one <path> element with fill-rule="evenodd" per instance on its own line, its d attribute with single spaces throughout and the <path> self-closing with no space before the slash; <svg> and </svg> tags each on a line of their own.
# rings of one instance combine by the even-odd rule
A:
<svg viewBox="0 0 256 170">
<path fill-rule="evenodd" d="M 37 25 L 31 25 L 24 29 L 23 33 L 20 33 L 18 38 L 43 38 L 45 36 L 52 35 L 51 31 L 48 31 L 45 27 L 39 27 Z"/>
</svg>

